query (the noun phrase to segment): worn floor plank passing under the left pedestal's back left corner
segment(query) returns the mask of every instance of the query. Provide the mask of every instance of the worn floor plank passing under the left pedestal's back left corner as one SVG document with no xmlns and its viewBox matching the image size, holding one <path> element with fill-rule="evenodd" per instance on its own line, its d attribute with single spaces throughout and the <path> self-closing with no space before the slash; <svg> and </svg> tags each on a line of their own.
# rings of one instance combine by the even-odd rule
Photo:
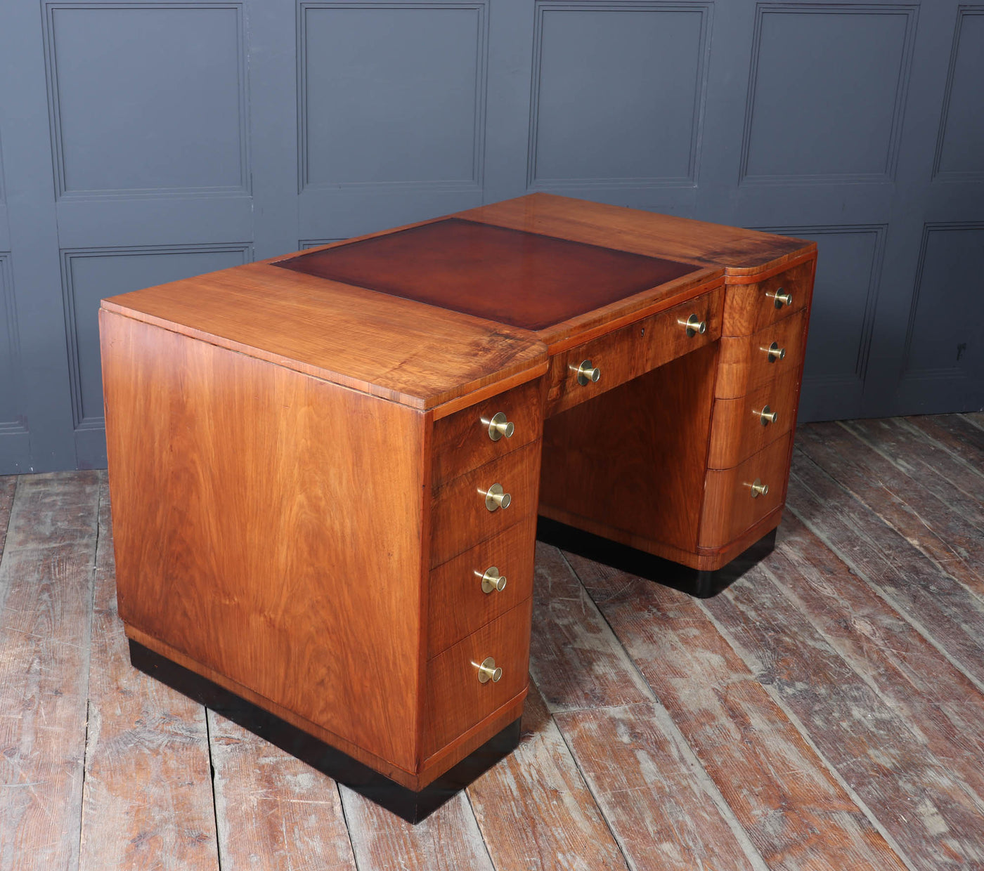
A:
<svg viewBox="0 0 984 871">
<path fill-rule="evenodd" d="M 205 710 L 130 666 L 99 518 L 80 867 L 218 868 Z"/>
</svg>

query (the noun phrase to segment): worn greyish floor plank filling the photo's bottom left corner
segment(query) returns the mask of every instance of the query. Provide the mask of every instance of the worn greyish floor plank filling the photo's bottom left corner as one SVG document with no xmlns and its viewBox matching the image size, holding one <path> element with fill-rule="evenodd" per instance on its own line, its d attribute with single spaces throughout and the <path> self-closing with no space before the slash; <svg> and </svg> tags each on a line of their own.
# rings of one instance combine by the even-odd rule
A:
<svg viewBox="0 0 984 871">
<path fill-rule="evenodd" d="M 78 865 L 98 490 L 96 472 L 18 482 L 0 562 L 2 869 Z"/>
</svg>

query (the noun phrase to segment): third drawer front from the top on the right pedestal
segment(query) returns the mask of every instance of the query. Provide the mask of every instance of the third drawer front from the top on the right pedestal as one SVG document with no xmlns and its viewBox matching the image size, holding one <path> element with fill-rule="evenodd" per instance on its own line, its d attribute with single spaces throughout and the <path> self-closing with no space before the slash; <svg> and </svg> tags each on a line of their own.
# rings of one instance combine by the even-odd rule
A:
<svg viewBox="0 0 984 871">
<path fill-rule="evenodd" d="M 707 465 L 730 469 L 788 433 L 798 393 L 799 368 L 737 399 L 715 399 Z"/>
</svg>

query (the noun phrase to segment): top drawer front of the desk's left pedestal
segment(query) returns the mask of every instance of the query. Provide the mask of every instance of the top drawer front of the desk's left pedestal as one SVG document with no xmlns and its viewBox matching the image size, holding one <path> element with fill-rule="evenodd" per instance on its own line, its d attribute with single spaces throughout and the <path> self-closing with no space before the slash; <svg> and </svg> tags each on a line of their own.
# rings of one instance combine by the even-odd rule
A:
<svg viewBox="0 0 984 871">
<path fill-rule="evenodd" d="M 461 475 L 463 469 L 482 466 L 539 438 L 542 391 L 543 378 L 535 378 L 434 424 L 432 486 L 440 487 Z M 490 427 L 497 415 L 502 415 L 505 422 L 502 427 Z M 510 424 L 512 428 L 506 432 L 512 435 L 504 435 L 502 428 Z"/>
</svg>

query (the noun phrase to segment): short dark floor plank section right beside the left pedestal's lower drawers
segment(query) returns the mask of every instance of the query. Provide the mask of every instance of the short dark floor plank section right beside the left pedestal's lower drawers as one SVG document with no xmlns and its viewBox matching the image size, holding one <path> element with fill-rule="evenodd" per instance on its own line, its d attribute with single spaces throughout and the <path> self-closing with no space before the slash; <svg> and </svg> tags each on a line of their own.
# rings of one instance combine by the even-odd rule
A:
<svg viewBox="0 0 984 871">
<path fill-rule="evenodd" d="M 551 712 L 652 701 L 652 693 L 556 548 L 536 543 L 529 671 Z"/>
</svg>

